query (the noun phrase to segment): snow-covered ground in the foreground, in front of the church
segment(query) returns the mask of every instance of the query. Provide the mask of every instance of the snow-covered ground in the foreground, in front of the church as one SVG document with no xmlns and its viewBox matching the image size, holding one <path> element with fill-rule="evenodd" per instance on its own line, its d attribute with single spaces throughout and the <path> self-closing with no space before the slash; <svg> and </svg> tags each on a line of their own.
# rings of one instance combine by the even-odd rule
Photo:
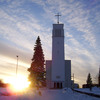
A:
<svg viewBox="0 0 100 100">
<path fill-rule="evenodd" d="M 5 94 L 9 94 L 7 96 Z M 27 89 L 21 93 L 13 94 L 10 90 L 0 88 L 0 100 L 100 100 L 100 98 L 73 92 L 71 89 L 48 90 Z"/>
</svg>

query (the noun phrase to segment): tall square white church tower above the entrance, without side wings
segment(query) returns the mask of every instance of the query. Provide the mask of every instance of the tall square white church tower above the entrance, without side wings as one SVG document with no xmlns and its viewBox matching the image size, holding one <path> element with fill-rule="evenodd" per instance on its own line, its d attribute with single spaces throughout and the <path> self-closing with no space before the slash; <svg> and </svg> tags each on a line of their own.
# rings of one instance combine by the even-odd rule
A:
<svg viewBox="0 0 100 100">
<path fill-rule="evenodd" d="M 59 16 L 59 15 L 58 15 Z M 64 25 L 53 24 L 52 31 L 52 81 L 65 81 Z"/>
</svg>

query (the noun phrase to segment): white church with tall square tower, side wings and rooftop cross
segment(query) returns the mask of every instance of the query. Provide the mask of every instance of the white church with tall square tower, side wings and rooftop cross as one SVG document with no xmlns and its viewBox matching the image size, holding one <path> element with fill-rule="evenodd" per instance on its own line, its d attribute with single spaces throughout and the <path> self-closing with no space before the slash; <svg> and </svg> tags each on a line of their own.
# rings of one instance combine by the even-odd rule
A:
<svg viewBox="0 0 100 100">
<path fill-rule="evenodd" d="M 53 24 L 52 60 L 46 60 L 46 84 L 50 89 L 71 87 L 71 60 L 65 60 L 64 24 Z"/>
</svg>

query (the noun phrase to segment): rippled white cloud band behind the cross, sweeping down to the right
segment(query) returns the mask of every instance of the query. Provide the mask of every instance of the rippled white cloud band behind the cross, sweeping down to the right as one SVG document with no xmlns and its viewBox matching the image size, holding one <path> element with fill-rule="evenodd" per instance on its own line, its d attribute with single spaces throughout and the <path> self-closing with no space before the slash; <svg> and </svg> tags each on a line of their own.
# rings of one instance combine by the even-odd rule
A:
<svg viewBox="0 0 100 100">
<path fill-rule="evenodd" d="M 38 2 L 38 4 L 41 5 L 40 2 Z M 53 2 L 47 0 L 43 5 L 45 11 L 44 16 L 55 21 L 54 13 L 61 12 L 62 15 L 64 15 L 63 20 L 66 20 L 65 23 L 69 23 L 70 26 L 75 27 L 77 31 L 84 32 L 83 38 L 89 42 L 90 46 L 95 47 L 96 39 L 92 32 L 93 25 L 89 22 L 90 11 L 84 10 L 83 7 L 84 4 L 82 2 L 74 2 L 74 0 L 71 2 L 69 0 L 66 2 L 64 0 L 55 0 Z"/>
</svg>

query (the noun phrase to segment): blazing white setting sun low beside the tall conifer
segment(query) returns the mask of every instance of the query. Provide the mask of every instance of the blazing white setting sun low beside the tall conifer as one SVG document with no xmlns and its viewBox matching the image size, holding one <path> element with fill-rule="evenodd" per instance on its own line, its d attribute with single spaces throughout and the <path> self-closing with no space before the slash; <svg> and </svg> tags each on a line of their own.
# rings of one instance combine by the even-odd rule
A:
<svg viewBox="0 0 100 100">
<path fill-rule="evenodd" d="M 10 84 L 13 91 L 22 91 L 29 86 L 30 82 L 28 82 L 25 76 L 18 75 L 16 78 L 10 80 Z"/>
</svg>

